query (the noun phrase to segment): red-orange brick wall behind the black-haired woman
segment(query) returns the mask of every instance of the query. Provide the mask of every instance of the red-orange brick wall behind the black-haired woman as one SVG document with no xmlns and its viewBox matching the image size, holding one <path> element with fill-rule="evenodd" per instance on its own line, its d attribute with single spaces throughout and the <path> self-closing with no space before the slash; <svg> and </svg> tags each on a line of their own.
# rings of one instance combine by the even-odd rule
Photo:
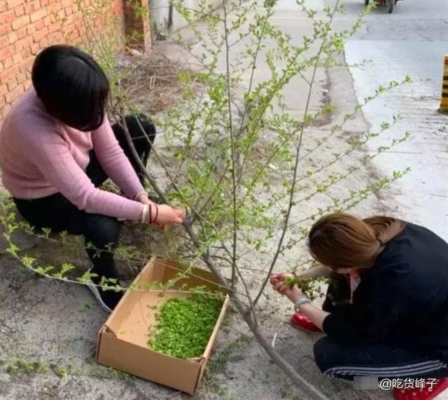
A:
<svg viewBox="0 0 448 400">
<path fill-rule="evenodd" d="M 31 66 L 42 48 L 55 43 L 85 47 L 100 35 L 123 44 L 130 31 L 125 27 L 127 1 L 0 0 L 0 124 L 31 85 Z M 148 29 L 147 24 L 137 28 Z M 148 46 L 148 32 L 142 37 Z"/>
</svg>

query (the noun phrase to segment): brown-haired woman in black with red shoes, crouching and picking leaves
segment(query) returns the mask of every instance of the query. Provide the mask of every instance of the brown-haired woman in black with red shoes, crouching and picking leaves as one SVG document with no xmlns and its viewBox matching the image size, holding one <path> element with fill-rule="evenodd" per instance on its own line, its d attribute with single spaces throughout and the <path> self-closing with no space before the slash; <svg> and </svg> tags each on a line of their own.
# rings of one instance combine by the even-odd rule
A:
<svg viewBox="0 0 448 400">
<path fill-rule="evenodd" d="M 398 219 L 331 214 L 311 228 L 309 250 L 322 266 L 304 275 L 344 275 L 351 284 L 347 301 L 335 305 L 327 298 L 321 310 L 297 285 L 286 284 L 290 275 L 272 275 L 271 283 L 300 312 L 293 317 L 296 325 L 311 322 L 326 334 L 314 345 L 325 375 L 448 377 L 447 242 Z M 440 392 L 448 380 L 432 386 Z M 433 398 L 434 391 L 427 390 L 428 397 L 419 389 L 413 389 L 419 392 L 414 398 Z M 397 399 L 407 394 L 395 390 Z"/>
</svg>

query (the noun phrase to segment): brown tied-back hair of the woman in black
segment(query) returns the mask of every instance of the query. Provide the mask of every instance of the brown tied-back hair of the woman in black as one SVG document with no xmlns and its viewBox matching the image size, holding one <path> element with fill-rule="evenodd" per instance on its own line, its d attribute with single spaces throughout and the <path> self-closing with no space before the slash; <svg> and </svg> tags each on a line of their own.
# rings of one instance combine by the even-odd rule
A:
<svg viewBox="0 0 448 400">
<path fill-rule="evenodd" d="M 323 216 L 309 231 L 309 250 L 330 268 L 365 268 L 380 247 L 401 233 L 406 223 L 388 216 L 358 219 L 350 214 Z"/>
</svg>

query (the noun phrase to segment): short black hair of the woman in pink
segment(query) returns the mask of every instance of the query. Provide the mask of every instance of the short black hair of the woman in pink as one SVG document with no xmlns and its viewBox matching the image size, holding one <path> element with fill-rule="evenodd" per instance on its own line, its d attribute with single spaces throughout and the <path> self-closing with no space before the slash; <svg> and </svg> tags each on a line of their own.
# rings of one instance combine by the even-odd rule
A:
<svg viewBox="0 0 448 400">
<path fill-rule="evenodd" d="M 34 60 L 31 76 L 51 116 L 86 132 L 102 125 L 109 81 L 90 55 L 73 46 L 50 46 Z"/>
</svg>

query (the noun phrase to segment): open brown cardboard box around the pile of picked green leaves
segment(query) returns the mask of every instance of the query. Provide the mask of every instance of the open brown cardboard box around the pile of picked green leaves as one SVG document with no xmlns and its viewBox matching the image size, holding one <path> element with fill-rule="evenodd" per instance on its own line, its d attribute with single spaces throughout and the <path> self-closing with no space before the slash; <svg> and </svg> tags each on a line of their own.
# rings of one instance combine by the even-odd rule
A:
<svg viewBox="0 0 448 400">
<path fill-rule="evenodd" d="M 149 282 L 167 282 L 179 274 L 181 265 L 176 261 L 152 258 L 134 281 L 137 287 Z M 194 275 L 194 276 L 191 276 Z M 176 282 L 175 287 L 188 284 L 189 287 L 207 286 L 219 290 L 214 276 L 206 270 L 192 268 L 189 275 Z M 175 290 L 127 291 L 98 333 L 97 362 L 120 371 L 137 375 L 193 394 L 200 383 L 209 361 L 216 335 L 223 322 L 229 298 L 226 296 L 209 343 L 204 354 L 196 359 L 176 359 L 151 350 L 148 347 L 148 331 L 155 325 L 155 312 L 148 305 L 158 305 L 169 298 L 190 296 Z"/>
</svg>

